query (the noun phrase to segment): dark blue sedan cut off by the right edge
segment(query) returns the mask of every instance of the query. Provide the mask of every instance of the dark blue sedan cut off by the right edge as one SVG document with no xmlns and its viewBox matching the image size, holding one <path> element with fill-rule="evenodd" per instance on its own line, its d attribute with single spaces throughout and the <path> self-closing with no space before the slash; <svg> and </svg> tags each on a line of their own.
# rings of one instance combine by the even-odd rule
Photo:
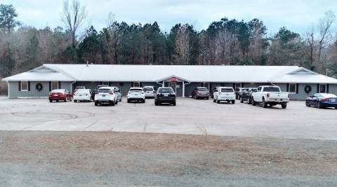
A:
<svg viewBox="0 0 337 187">
<path fill-rule="evenodd" d="M 318 109 L 324 107 L 335 107 L 337 109 L 337 96 L 329 93 L 316 93 L 305 100 L 306 106 L 316 106 Z"/>
</svg>

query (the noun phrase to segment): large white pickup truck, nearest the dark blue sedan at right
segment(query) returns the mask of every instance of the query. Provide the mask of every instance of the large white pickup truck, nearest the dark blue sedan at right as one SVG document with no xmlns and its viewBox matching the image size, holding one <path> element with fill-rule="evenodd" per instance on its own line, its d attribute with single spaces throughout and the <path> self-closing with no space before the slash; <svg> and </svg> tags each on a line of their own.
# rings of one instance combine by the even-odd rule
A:
<svg viewBox="0 0 337 187">
<path fill-rule="evenodd" d="M 275 85 L 263 85 L 258 87 L 257 92 L 251 94 L 251 104 L 255 106 L 258 103 L 262 103 L 263 108 L 275 106 L 281 104 L 282 109 L 286 109 L 286 104 L 289 102 L 289 93 L 281 92 L 281 89 Z"/>
</svg>

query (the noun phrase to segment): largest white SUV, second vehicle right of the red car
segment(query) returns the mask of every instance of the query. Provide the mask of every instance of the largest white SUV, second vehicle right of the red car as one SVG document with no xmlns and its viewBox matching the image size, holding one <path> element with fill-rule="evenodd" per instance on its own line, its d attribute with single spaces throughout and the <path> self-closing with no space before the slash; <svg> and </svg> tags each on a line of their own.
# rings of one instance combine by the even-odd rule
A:
<svg viewBox="0 0 337 187">
<path fill-rule="evenodd" d="M 113 88 L 110 87 L 100 87 L 95 94 L 95 106 L 99 104 L 111 104 L 114 106 L 118 104 L 117 93 L 114 92 Z"/>
</svg>

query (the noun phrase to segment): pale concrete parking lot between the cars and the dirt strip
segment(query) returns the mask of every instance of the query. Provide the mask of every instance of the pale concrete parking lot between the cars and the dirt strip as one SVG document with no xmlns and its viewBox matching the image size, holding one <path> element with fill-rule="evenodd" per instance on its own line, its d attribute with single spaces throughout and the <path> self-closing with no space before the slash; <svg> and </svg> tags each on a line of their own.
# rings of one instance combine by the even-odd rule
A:
<svg viewBox="0 0 337 187">
<path fill-rule="evenodd" d="M 291 101 L 280 106 L 216 104 L 178 98 L 177 106 L 119 102 L 53 102 L 48 99 L 0 99 L 0 130 L 119 131 L 214 134 L 239 137 L 337 139 L 337 110 Z"/>
</svg>

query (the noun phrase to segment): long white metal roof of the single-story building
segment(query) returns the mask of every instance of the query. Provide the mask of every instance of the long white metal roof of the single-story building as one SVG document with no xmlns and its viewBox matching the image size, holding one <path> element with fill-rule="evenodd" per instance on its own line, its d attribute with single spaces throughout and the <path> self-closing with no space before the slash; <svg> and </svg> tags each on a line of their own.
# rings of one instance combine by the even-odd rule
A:
<svg viewBox="0 0 337 187">
<path fill-rule="evenodd" d="M 183 78 L 219 83 L 337 83 L 337 79 L 296 66 L 201 66 L 44 64 L 3 81 L 141 81 Z"/>
</svg>

